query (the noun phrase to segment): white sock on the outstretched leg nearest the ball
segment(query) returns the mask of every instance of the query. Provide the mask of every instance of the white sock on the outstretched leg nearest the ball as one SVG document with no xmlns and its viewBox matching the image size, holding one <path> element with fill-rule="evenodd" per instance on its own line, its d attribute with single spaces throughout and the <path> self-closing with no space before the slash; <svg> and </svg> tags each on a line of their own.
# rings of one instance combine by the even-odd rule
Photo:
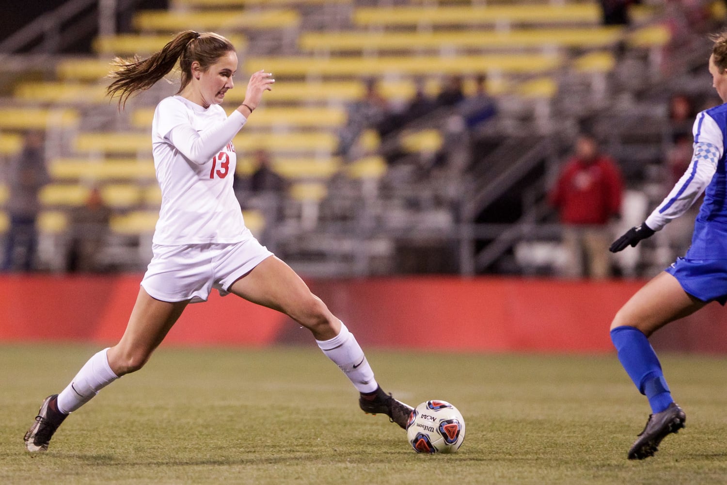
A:
<svg viewBox="0 0 727 485">
<path fill-rule="evenodd" d="M 326 357 L 334 361 L 361 393 L 372 393 L 379 385 L 356 337 L 341 322 L 341 331 L 331 340 L 316 340 Z"/>
</svg>

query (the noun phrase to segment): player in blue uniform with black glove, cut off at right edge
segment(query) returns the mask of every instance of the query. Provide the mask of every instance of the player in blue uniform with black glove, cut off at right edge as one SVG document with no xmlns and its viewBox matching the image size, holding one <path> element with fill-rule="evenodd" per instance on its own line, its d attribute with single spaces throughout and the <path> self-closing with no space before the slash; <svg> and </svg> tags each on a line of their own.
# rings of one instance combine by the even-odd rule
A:
<svg viewBox="0 0 727 485">
<path fill-rule="evenodd" d="M 712 86 L 727 103 L 727 31 L 712 40 Z M 678 432 L 686 420 L 683 409 L 672 399 L 648 337 L 708 302 L 727 302 L 727 104 L 699 113 L 693 132 L 694 155 L 685 174 L 646 221 L 611 245 L 611 252 L 636 246 L 686 212 L 704 193 L 686 256 L 636 292 L 611 324 L 611 340 L 619 361 L 640 393 L 646 395 L 653 412 L 629 450 L 631 460 L 653 456 L 662 439 Z"/>
</svg>

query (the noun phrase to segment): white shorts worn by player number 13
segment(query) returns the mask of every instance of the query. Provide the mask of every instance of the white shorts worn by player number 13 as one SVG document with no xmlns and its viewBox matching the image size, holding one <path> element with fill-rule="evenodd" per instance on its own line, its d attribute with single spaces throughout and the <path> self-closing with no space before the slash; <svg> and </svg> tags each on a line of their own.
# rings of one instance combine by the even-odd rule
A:
<svg viewBox="0 0 727 485">
<path fill-rule="evenodd" d="M 213 288 L 224 297 L 235 281 L 273 255 L 246 233 L 249 237 L 237 243 L 152 244 L 153 257 L 141 286 L 164 302 L 204 302 Z"/>
</svg>

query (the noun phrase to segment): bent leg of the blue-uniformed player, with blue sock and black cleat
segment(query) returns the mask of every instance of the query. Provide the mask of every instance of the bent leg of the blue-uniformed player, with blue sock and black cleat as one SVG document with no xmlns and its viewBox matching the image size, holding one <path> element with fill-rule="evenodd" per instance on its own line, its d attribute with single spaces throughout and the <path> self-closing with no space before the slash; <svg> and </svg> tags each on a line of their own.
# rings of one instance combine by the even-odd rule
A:
<svg viewBox="0 0 727 485">
<path fill-rule="evenodd" d="M 614 317 L 611 339 L 619 351 L 619 361 L 640 393 L 647 396 L 653 411 L 628 452 L 630 460 L 654 456 L 662 440 L 684 428 L 686 422 L 685 412 L 672 400 L 648 337 L 704 305 L 684 292 L 674 276 L 662 272 L 636 292 Z"/>
</svg>

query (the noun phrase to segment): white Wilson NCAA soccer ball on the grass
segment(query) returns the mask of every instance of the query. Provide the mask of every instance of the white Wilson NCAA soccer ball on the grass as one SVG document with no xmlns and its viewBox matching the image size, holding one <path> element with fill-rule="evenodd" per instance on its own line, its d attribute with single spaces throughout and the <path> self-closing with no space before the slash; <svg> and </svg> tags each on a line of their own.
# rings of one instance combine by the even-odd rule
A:
<svg viewBox="0 0 727 485">
<path fill-rule="evenodd" d="M 417 453 L 454 453 L 465 441 L 465 419 L 447 401 L 426 401 L 409 414 L 406 437 Z"/>
</svg>

